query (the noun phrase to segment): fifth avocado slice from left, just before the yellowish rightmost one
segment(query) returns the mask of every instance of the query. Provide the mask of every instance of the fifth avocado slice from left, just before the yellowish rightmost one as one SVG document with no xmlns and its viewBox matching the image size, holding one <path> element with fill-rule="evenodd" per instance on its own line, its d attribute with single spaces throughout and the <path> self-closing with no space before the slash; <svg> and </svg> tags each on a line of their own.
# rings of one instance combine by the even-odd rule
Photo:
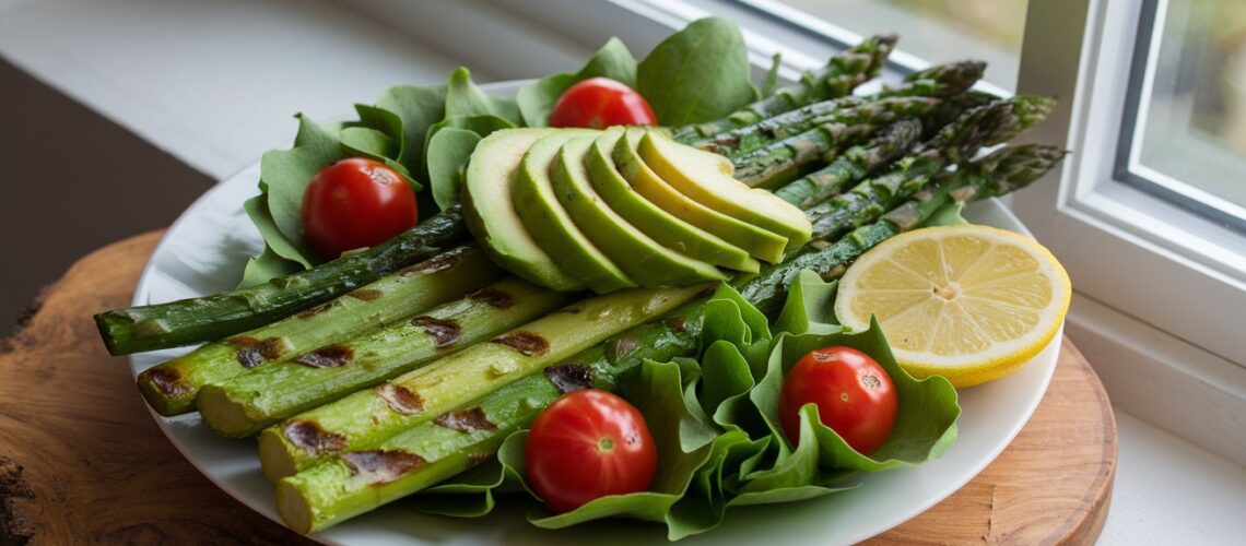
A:
<svg viewBox="0 0 1246 546">
<path fill-rule="evenodd" d="M 637 193 L 650 203 L 660 206 L 689 224 L 693 224 L 719 239 L 723 239 L 740 249 L 744 249 L 754 257 L 778 264 L 782 260 L 784 248 L 787 239 L 773 231 L 749 225 L 731 216 L 721 214 L 709 206 L 697 203 L 688 195 L 667 184 L 658 177 L 637 153 L 635 147 L 644 138 L 648 129 L 633 127 L 627 129 L 623 138 L 614 146 L 614 167 L 619 169 L 623 178 Z"/>
</svg>

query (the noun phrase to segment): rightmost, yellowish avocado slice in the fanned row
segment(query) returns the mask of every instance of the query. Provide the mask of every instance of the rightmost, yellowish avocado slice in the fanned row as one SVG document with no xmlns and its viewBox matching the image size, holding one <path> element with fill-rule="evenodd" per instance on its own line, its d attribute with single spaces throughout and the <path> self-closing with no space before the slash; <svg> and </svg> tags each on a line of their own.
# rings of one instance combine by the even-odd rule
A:
<svg viewBox="0 0 1246 546">
<path fill-rule="evenodd" d="M 657 131 L 645 133 L 637 152 L 644 164 L 684 195 L 736 220 L 782 235 L 789 250 L 807 243 L 814 231 L 805 213 L 791 203 L 733 178 L 735 169 L 723 155 L 680 144 Z"/>
</svg>

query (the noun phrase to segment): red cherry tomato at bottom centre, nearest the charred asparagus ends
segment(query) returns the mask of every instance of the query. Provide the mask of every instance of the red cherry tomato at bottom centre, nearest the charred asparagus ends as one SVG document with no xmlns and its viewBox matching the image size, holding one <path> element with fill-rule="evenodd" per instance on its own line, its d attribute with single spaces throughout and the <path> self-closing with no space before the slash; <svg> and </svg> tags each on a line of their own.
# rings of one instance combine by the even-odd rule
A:
<svg viewBox="0 0 1246 546">
<path fill-rule="evenodd" d="M 658 451 L 644 418 L 599 389 L 564 394 L 537 415 L 525 445 L 532 489 L 556 512 L 649 489 Z"/>
</svg>

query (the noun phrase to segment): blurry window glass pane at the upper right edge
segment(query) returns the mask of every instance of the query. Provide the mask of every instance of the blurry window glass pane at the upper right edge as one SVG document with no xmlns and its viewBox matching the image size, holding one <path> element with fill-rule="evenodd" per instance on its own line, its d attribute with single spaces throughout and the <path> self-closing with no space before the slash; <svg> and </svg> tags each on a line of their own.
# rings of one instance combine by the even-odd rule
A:
<svg viewBox="0 0 1246 546">
<path fill-rule="evenodd" d="M 1143 25 L 1125 182 L 1246 228 L 1246 2 L 1149 2 Z"/>
</svg>

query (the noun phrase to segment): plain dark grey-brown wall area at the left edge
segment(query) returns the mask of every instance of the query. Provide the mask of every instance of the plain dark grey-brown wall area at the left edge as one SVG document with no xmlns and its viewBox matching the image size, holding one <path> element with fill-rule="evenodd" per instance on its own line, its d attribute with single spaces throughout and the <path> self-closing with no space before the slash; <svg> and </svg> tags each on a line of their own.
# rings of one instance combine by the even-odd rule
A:
<svg viewBox="0 0 1246 546">
<path fill-rule="evenodd" d="M 168 225 L 212 184 L 0 60 L 0 337 L 75 260 Z"/>
</svg>

